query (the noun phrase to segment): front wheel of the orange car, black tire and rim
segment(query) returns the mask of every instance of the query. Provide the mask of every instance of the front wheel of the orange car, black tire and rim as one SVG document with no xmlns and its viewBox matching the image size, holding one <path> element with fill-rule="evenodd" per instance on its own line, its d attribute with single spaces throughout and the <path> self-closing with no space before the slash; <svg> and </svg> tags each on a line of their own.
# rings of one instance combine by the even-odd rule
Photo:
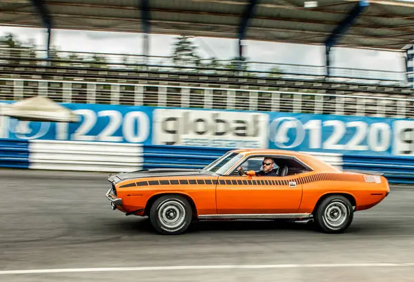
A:
<svg viewBox="0 0 414 282">
<path fill-rule="evenodd" d="M 165 195 L 152 204 L 149 217 L 159 234 L 178 235 L 187 230 L 193 218 L 193 210 L 186 198 L 180 195 Z"/>
</svg>

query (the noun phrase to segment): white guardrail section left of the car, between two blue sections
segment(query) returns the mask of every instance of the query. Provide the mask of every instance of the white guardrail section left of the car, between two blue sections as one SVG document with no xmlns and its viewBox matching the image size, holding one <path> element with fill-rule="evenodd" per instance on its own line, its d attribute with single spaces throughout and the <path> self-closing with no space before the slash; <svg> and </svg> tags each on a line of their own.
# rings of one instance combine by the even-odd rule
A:
<svg viewBox="0 0 414 282">
<path fill-rule="evenodd" d="M 29 168 L 121 172 L 139 170 L 144 162 L 140 144 L 30 140 Z"/>
</svg>

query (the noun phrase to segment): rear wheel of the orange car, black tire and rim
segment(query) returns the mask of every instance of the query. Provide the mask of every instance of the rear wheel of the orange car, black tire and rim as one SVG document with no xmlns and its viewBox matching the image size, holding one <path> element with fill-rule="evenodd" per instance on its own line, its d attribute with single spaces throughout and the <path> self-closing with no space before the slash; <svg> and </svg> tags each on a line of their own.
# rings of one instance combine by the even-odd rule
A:
<svg viewBox="0 0 414 282">
<path fill-rule="evenodd" d="M 353 221 L 353 207 L 346 197 L 332 195 L 326 197 L 313 214 L 319 230 L 329 234 L 342 233 Z"/>
</svg>

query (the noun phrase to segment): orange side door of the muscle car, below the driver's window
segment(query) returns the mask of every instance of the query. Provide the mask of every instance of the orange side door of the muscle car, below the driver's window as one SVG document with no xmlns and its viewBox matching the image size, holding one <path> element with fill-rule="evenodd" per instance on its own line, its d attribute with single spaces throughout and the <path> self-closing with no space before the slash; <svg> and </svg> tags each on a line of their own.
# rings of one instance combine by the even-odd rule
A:
<svg viewBox="0 0 414 282">
<path fill-rule="evenodd" d="M 260 163 L 262 160 L 260 157 Z M 242 166 L 251 168 L 248 163 Z M 295 176 L 249 177 L 233 172 L 219 177 L 216 198 L 218 214 L 295 213 L 302 199 L 302 185 Z"/>
</svg>

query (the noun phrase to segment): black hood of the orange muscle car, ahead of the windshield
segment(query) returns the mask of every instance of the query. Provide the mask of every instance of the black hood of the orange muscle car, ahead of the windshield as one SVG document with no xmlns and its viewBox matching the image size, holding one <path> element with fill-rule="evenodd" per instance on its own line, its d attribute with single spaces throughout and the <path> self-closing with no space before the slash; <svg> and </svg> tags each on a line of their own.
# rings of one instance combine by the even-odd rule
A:
<svg viewBox="0 0 414 282">
<path fill-rule="evenodd" d="M 140 179 L 148 177 L 181 177 L 181 176 L 198 176 L 198 175 L 213 175 L 213 172 L 206 170 L 188 170 L 175 168 L 154 168 L 146 170 L 136 170 L 133 172 L 120 172 L 110 174 L 108 181 L 117 184 L 128 179 Z"/>
</svg>

